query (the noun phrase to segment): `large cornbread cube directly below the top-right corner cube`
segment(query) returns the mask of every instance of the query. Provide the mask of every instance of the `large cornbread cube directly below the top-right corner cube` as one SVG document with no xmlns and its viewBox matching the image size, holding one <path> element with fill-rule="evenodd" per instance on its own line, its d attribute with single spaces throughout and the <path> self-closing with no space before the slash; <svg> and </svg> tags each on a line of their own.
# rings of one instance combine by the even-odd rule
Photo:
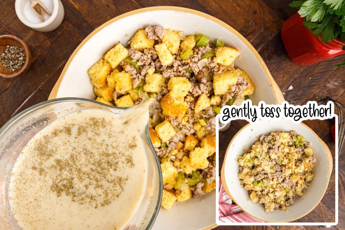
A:
<svg viewBox="0 0 345 230">
<path fill-rule="evenodd" d="M 224 95 L 231 92 L 230 87 L 237 82 L 237 72 L 228 70 L 213 77 L 213 89 L 215 95 Z"/>
</svg>

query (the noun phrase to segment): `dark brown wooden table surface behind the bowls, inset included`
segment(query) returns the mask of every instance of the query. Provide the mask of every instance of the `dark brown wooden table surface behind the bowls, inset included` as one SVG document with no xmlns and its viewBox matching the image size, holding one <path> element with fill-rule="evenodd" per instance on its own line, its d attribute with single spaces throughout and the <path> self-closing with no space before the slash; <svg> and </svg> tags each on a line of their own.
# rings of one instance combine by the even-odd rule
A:
<svg viewBox="0 0 345 230">
<path fill-rule="evenodd" d="M 94 29 L 119 14 L 143 7 L 179 6 L 210 14 L 239 31 L 259 52 L 273 78 L 290 104 L 319 101 L 327 96 L 345 104 L 345 67 L 335 67 L 345 55 L 313 64 L 299 66 L 292 62 L 280 38 L 284 20 L 296 12 L 288 7 L 290 0 L 170 0 L 110 1 L 61 0 L 65 18 L 52 32 L 37 32 L 22 24 L 16 16 L 14 1 L 0 1 L 0 35 L 12 34 L 24 40 L 31 52 L 30 69 L 19 77 L 0 78 L 0 126 L 20 111 L 48 99 L 49 93 L 78 44 Z M 289 87 L 293 86 L 292 90 Z M 231 128 L 220 133 L 220 166 L 231 137 L 245 121 L 232 122 Z M 330 127 L 333 120 L 305 122 L 328 145 L 335 156 Z M 335 163 L 335 161 L 334 161 Z M 345 154 L 339 158 L 339 222 L 331 229 L 345 228 Z M 220 171 L 220 169 L 219 169 Z M 335 170 L 326 194 L 318 206 L 297 222 L 335 222 Z M 302 223 L 301 223 L 302 224 Z M 318 226 L 219 226 L 217 230 L 242 229 L 317 229 Z"/>
</svg>

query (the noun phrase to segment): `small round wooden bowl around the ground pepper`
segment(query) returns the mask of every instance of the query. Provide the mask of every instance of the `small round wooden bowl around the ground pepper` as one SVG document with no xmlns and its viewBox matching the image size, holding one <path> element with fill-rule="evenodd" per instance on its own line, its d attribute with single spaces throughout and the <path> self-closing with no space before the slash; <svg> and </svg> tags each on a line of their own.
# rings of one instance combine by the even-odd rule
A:
<svg viewBox="0 0 345 230">
<path fill-rule="evenodd" d="M 4 68 L 0 62 L 0 76 L 4 78 L 17 77 L 18 75 L 28 70 L 31 63 L 31 52 L 27 44 L 24 43 L 21 39 L 17 38 L 16 36 L 12 36 L 8 34 L 0 36 L 0 54 L 4 51 L 4 49 L 6 49 L 6 46 L 21 47 L 25 53 L 25 62 L 22 65 L 22 67 L 16 71 L 10 71 Z"/>
</svg>

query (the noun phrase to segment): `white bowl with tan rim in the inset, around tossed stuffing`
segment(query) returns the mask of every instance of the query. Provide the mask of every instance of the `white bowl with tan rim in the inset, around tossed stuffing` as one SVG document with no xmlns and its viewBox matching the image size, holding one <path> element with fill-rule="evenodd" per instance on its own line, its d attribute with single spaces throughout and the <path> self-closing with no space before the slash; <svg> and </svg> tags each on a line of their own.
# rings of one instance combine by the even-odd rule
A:
<svg viewBox="0 0 345 230">
<path fill-rule="evenodd" d="M 295 204 L 287 206 L 289 211 L 274 210 L 265 213 L 263 204 L 255 203 L 249 199 L 248 192 L 240 186 L 238 179 L 239 166 L 237 156 L 242 156 L 249 150 L 260 134 L 268 134 L 277 131 L 295 130 L 310 142 L 315 154 L 316 162 L 312 169 L 314 178 L 305 190 L 303 196 L 295 199 Z M 295 124 L 290 120 L 268 121 L 260 120 L 255 124 L 243 127 L 229 143 L 221 169 L 221 181 L 224 190 L 238 204 L 238 206 L 254 218 L 265 222 L 290 222 L 305 216 L 312 211 L 324 196 L 329 177 L 332 172 L 333 160 L 331 152 L 317 134 L 303 123 Z M 321 221 L 327 222 L 327 221 Z"/>
</svg>

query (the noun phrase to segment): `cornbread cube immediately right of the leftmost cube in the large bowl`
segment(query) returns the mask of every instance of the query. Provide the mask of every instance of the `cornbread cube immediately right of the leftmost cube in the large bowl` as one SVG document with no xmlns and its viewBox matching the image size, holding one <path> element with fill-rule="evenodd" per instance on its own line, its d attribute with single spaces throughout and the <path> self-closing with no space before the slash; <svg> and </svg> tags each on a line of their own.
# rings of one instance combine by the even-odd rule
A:
<svg viewBox="0 0 345 230">
<path fill-rule="evenodd" d="M 133 88 L 132 79 L 130 76 L 130 73 L 127 73 L 126 71 L 114 74 L 112 73 L 110 76 L 108 76 L 108 85 L 110 87 L 115 87 L 116 91 L 125 94 L 128 90 Z"/>
</svg>

